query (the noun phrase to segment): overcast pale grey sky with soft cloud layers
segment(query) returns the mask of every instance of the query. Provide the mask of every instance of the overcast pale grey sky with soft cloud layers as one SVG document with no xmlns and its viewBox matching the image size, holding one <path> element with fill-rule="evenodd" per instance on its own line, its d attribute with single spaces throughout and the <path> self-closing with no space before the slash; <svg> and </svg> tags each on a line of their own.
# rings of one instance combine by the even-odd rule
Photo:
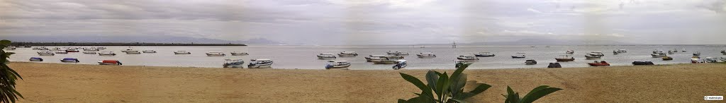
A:
<svg viewBox="0 0 726 103">
<path fill-rule="evenodd" d="M 308 45 L 527 38 L 726 44 L 726 1 L 0 0 L 0 39 L 49 35 L 266 38 Z"/>
</svg>

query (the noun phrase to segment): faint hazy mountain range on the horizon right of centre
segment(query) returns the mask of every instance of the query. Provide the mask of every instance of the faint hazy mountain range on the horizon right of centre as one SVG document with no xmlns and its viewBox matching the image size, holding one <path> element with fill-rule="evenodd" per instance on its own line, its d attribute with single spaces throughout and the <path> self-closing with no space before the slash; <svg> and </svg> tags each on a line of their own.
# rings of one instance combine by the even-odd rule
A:
<svg viewBox="0 0 726 103">
<path fill-rule="evenodd" d="M 418 44 L 418 45 L 452 45 L 452 44 Z M 637 45 L 613 40 L 552 40 L 523 39 L 509 42 L 457 42 L 457 45 Z"/>
</svg>

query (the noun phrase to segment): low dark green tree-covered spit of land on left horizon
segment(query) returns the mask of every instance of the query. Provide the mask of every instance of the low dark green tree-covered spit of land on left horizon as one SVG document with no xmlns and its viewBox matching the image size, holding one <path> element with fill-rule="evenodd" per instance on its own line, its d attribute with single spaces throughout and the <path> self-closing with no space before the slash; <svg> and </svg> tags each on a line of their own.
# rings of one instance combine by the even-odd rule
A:
<svg viewBox="0 0 726 103">
<path fill-rule="evenodd" d="M 149 43 L 149 42 L 12 42 L 15 46 L 247 46 L 244 44 Z"/>
</svg>

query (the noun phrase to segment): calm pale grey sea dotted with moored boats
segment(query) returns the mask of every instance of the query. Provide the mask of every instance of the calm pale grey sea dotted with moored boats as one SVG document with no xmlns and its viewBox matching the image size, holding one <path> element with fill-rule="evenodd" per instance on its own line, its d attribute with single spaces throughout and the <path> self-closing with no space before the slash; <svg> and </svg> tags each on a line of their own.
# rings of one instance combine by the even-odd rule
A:
<svg viewBox="0 0 726 103">
<path fill-rule="evenodd" d="M 221 68 L 224 59 L 244 59 L 245 65 L 250 59 L 269 58 L 274 61 L 272 68 L 282 69 L 325 69 L 327 61 L 319 60 L 319 53 L 340 53 L 355 51 L 359 55 L 350 58 L 337 58 L 335 61 L 349 61 L 351 70 L 383 70 L 391 69 L 393 65 L 373 64 L 366 62 L 368 55 L 386 55 L 391 51 L 407 51 L 411 55 L 405 56 L 409 66 L 404 69 L 454 69 L 457 55 L 471 55 L 479 52 L 491 52 L 494 57 L 480 57 L 480 61 L 473 62 L 470 69 L 497 69 L 497 68 L 546 68 L 548 63 L 555 63 L 555 58 L 565 54 L 566 50 L 575 50 L 575 61 L 559 62 L 564 68 L 587 67 L 593 61 L 608 61 L 611 66 L 632 66 L 633 61 L 653 61 L 656 64 L 690 63 L 693 52 L 700 51 L 701 57 L 722 56 L 719 53 L 726 49 L 724 45 L 459 45 L 451 48 L 449 45 L 420 48 L 411 45 L 346 45 L 346 46 L 313 46 L 313 45 L 250 45 L 250 46 L 105 46 L 106 50 L 113 51 L 115 56 L 99 56 L 83 53 L 56 54 L 54 56 L 40 56 L 32 48 L 17 48 L 9 50 L 15 52 L 11 61 L 28 61 L 31 57 L 41 57 L 42 63 L 61 63 L 62 58 L 78 58 L 80 64 L 98 64 L 102 60 L 118 60 L 124 66 L 175 66 L 175 67 L 210 67 Z M 55 48 L 55 47 L 46 47 Z M 85 48 L 85 47 L 78 47 Z M 121 50 L 133 48 L 134 50 L 156 50 L 158 53 L 126 54 Z M 683 49 L 688 52 L 681 52 Z M 613 50 L 624 49 L 627 53 L 613 55 Z M 653 50 L 679 50 L 673 61 L 662 61 L 661 58 L 652 58 Z M 174 55 L 176 50 L 187 50 L 192 55 Z M 210 57 L 205 55 L 209 51 L 227 53 L 224 57 Z M 232 56 L 229 53 L 240 51 L 250 55 Z M 598 60 L 585 60 L 584 55 L 592 51 L 602 51 L 605 56 Z M 83 52 L 83 50 L 81 50 Z M 436 58 L 417 58 L 417 53 L 436 53 Z M 515 53 L 526 53 L 526 58 L 511 58 Z M 525 65 L 526 60 L 536 60 L 537 65 Z"/>
</svg>

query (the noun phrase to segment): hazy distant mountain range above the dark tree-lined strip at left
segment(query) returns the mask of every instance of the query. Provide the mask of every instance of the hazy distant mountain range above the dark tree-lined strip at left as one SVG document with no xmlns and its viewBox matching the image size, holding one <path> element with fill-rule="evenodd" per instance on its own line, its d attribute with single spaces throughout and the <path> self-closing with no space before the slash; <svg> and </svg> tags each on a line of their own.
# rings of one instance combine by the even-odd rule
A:
<svg viewBox="0 0 726 103">
<path fill-rule="evenodd" d="M 282 45 L 284 43 L 265 38 L 250 40 L 218 40 L 197 37 L 176 37 L 176 36 L 0 36 L 0 39 L 12 40 L 15 42 L 153 42 L 153 43 L 236 43 L 247 45 Z"/>
</svg>

